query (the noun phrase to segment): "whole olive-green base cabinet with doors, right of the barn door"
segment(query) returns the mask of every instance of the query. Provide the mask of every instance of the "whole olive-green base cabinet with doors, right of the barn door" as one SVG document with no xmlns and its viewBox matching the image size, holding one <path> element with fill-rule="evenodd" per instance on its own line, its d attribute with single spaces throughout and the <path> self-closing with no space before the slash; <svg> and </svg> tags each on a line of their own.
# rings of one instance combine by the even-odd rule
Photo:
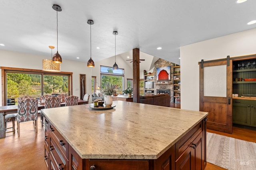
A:
<svg viewBox="0 0 256 170">
<path fill-rule="evenodd" d="M 233 99 L 232 121 L 256 127 L 256 100 Z"/>
</svg>

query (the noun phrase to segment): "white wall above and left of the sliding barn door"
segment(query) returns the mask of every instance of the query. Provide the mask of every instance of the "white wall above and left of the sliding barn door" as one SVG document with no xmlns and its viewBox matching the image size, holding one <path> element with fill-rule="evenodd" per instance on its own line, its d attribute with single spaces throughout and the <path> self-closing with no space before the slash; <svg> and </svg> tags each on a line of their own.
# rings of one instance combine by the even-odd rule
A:
<svg viewBox="0 0 256 170">
<path fill-rule="evenodd" d="M 256 53 L 256 29 L 180 47 L 181 108 L 199 110 L 199 65 L 202 59 L 222 59 Z"/>
</svg>

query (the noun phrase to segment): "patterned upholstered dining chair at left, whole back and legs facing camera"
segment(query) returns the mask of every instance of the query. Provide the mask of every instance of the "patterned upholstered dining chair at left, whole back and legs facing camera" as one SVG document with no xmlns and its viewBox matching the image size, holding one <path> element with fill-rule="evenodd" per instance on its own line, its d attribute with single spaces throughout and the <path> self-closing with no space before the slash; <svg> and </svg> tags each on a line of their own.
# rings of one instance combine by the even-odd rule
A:
<svg viewBox="0 0 256 170">
<path fill-rule="evenodd" d="M 37 113 L 38 100 L 32 98 L 24 98 L 18 100 L 18 136 L 20 136 L 20 123 L 25 121 L 35 121 L 37 133 Z"/>
</svg>

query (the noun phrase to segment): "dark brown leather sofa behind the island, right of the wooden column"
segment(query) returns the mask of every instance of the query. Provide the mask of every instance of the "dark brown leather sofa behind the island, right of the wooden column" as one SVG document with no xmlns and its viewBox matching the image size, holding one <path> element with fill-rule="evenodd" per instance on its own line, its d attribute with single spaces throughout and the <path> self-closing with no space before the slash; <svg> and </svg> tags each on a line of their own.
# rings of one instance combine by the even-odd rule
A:
<svg viewBox="0 0 256 170">
<path fill-rule="evenodd" d="M 170 107 L 171 97 L 169 94 L 156 94 L 151 96 L 140 96 L 140 103 L 152 104 L 157 106 Z"/>
</svg>

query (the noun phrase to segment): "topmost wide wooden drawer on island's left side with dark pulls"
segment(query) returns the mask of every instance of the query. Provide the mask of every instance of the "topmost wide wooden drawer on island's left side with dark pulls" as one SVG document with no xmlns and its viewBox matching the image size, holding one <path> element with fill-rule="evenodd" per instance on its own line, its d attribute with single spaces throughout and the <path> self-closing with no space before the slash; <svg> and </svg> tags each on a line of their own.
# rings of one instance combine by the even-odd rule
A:
<svg viewBox="0 0 256 170">
<path fill-rule="evenodd" d="M 60 135 L 60 133 L 56 130 L 56 128 L 50 124 L 50 137 L 51 140 L 54 139 L 60 150 L 65 154 L 66 158 L 68 158 L 68 142 Z"/>
</svg>

